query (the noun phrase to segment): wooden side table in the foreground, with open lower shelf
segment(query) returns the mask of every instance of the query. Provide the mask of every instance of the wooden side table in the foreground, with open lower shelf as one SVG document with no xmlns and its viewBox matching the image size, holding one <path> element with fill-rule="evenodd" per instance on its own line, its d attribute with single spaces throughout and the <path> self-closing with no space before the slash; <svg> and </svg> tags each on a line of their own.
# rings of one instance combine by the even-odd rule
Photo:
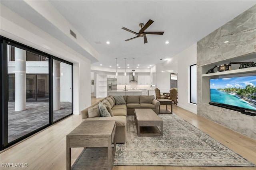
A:
<svg viewBox="0 0 256 170">
<path fill-rule="evenodd" d="M 83 121 L 67 135 L 67 170 L 71 169 L 71 148 L 80 147 L 85 149 L 72 169 L 112 170 L 116 152 L 115 133 L 115 120 Z"/>
</svg>

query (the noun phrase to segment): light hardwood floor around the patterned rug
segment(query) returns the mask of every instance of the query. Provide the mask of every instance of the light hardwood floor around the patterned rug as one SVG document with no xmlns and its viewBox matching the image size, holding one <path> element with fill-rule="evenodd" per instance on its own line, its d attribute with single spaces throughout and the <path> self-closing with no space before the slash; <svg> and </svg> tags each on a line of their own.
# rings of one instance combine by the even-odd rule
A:
<svg viewBox="0 0 256 170">
<path fill-rule="evenodd" d="M 99 99 L 92 98 L 92 103 Z M 165 109 L 165 106 L 161 106 Z M 168 106 L 168 110 L 170 107 Z M 173 112 L 198 129 L 201 129 L 226 147 L 256 164 L 256 141 L 204 119 L 178 106 Z M 1 170 L 65 170 L 66 135 L 82 122 L 80 115 L 72 115 L 30 137 L 18 145 L 1 152 Z M 72 148 L 72 164 L 82 148 Z M 2 163 L 27 163 L 27 168 L 4 168 Z M 100 163 L 99 163 L 100 164 Z M 206 167 L 206 166 L 114 166 L 113 170 L 256 170 L 256 167 Z"/>
</svg>

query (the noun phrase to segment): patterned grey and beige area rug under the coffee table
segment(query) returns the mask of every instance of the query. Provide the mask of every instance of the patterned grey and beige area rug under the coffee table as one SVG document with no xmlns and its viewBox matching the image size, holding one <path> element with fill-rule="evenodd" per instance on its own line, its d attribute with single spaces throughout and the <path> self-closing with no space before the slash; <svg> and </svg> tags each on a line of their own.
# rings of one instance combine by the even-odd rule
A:
<svg viewBox="0 0 256 170">
<path fill-rule="evenodd" d="M 256 166 L 178 115 L 159 117 L 163 137 L 138 137 L 134 116 L 127 116 L 127 141 L 117 144 L 114 165 Z"/>
</svg>

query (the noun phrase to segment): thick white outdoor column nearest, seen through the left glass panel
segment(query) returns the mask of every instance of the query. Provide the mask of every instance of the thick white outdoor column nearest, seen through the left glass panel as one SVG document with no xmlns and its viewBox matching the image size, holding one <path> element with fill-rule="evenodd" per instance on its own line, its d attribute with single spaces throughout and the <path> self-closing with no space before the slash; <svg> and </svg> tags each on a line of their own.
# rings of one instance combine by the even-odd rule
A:
<svg viewBox="0 0 256 170">
<path fill-rule="evenodd" d="M 15 111 L 26 110 L 26 51 L 15 47 Z"/>
</svg>

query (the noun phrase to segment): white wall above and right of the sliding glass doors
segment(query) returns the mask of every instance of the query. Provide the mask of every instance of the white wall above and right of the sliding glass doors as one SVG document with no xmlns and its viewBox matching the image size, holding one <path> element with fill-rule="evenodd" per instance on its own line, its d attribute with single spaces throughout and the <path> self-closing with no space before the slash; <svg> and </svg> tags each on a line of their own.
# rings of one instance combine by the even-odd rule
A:
<svg viewBox="0 0 256 170">
<path fill-rule="evenodd" d="M 0 35 L 74 64 L 73 113 L 79 114 L 81 109 L 90 106 L 88 89 L 91 82 L 88 80 L 90 80 L 91 61 L 2 4 L 0 11 Z"/>
</svg>

